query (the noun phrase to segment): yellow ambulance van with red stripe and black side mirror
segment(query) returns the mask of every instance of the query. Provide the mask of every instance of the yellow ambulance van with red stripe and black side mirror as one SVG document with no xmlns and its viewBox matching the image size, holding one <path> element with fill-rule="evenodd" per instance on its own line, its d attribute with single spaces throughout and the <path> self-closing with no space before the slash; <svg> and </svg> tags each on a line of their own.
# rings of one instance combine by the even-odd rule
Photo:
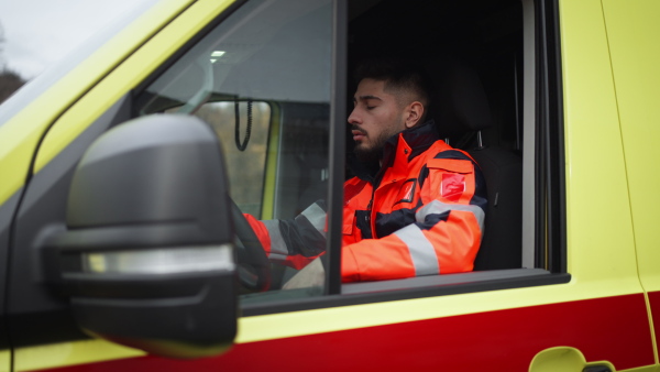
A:
<svg viewBox="0 0 660 372">
<path fill-rule="evenodd" d="M 660 371 L 660 2 L 164 0 L 0 106 L 0 371 Z M 341 283 L 352 72 L 422 63 L 469 273 Z M 658 149 L 656 149 L 658 147 Z M 243 214 L 327 205 L 284 289 Z"/>
</svg>

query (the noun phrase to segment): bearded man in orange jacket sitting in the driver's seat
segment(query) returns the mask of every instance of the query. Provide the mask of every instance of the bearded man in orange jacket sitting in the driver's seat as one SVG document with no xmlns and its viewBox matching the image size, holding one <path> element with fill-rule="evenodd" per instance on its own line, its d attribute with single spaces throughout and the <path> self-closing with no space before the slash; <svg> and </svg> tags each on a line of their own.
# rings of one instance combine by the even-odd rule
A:
<svg viewBox="0 0 660 372">
<path fill-rule="evenodd" d="M 479 165 L 452 149 L 432 120 L 427 79 L 395 61 L 362 65 L 348 122 L 355 177 L 344 184 L 342 282 L 471 271 L 480 247 L 486 189 Z M 324 207 L 295 220 L 250 222 L 271 260 L 305 266 L 287 287 L 323 280 Z M 320 259 L 317 259 L 319 258 Z"/>
</svg>

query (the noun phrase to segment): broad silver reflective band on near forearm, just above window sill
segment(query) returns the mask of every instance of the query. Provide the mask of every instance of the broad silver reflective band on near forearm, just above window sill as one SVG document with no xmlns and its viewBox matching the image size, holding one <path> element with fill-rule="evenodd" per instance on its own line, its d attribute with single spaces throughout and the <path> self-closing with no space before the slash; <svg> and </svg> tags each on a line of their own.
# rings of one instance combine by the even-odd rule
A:
<svg viewBox="0 0 660 372">
<path fill-rule="evenodd" d="M 415 266 L 415 275 L 438 275 L 440 266 L 433 244 L 424 236 L 417 225 L 408 225 L 394 232 L 406 243 Z"/>
</svg>

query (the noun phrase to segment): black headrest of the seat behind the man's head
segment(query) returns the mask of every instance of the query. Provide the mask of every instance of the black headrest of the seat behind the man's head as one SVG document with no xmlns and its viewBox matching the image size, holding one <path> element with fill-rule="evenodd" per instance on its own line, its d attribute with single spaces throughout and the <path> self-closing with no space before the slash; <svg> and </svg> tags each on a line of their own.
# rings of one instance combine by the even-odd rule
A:
<svg viewBox="0 0 660 372">
<path fill-rule="evenodd" d="M 438 73 L 430 114 L 440 133 L 451 135 L 490 128 L 491 106 L 476 72 L 466 64 L 450 61 L 441 64 Z"/>
</svg>

